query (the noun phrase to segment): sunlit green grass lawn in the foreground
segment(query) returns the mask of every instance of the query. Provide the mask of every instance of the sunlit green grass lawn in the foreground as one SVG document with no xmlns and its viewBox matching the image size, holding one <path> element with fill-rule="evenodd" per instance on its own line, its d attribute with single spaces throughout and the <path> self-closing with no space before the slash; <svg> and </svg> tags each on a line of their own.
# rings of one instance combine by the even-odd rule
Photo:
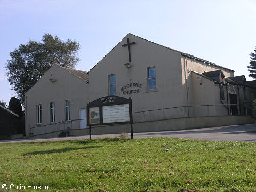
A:
<svg viewBox="0 0 256 192">
<path fill-rule="evenodd" d="M 3 183 L 47 191 L 256 191 L 255 149 L 175 138 L 6 143 L 0 191 Z"/>
</svg>

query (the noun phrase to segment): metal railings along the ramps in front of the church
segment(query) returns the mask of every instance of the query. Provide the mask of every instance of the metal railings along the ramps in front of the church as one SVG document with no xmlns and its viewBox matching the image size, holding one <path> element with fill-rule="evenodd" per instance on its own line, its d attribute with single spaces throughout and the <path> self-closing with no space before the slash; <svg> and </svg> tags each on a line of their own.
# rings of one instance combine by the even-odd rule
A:
<svg viewBox="0 0 256 192">
<path fill-rule="evenodd" d="M 220 110 L 220 108 L 227 107 L 229 114 L 225 110 Z M 203 108 L 203 109 L 202 109 Z M 200 110 L 199 110 L 200 109 Z M 180 107 L 169 107 L 162 109 L 153 109 L 145 111 L 133 112 L 133 122 L 148 122 L 157 121 L 172 118 L 186 118 L 186 117 L 205 117 L 205 116 L 217 116 L 217 115 L 249 115 L 252 114 L 252 108 L 247 105 L 237 105 L 237 104 L 222 104 L 215 105 L 191 105 L 191 106 L 180 106 Z M 218 114 L 218 111 L 224 111 L 222 114 Z M 224 114 L 226 113 L 226 114 Z M 86 122 L 85 119 L 74 119 L 71 121 L 61 121 L 54 124 L 40 125 L 35 127 L 30 127 L 30 133 L 33 135 L 45 134 L 45 133 L 56 133 L 58 137 L 59 131 L 67 133 L 73 127 L 81 127 L 81 124 Z M 86 126 L 86 124 L 85 124 Z M 33 131 L 31 131 L 33 130 Z M 32 133 L 33 132 L 33 133 Z"/>
</svg>

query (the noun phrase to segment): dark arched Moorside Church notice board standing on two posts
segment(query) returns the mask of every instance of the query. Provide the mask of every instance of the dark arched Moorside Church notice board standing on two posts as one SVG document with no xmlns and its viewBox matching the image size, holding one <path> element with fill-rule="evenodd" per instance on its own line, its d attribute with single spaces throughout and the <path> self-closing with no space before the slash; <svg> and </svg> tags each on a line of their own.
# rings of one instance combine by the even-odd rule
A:
<svg viewBox="0 0 256 192">
<path fill-rule="evenodd" d="M 90 140 L 92 138 L 91 126 L 128 124 L 132 127 L 132 99 L 119 96 L 106 96 L 87 104 L 87 125 L 89 125 Z"/>
</svg>

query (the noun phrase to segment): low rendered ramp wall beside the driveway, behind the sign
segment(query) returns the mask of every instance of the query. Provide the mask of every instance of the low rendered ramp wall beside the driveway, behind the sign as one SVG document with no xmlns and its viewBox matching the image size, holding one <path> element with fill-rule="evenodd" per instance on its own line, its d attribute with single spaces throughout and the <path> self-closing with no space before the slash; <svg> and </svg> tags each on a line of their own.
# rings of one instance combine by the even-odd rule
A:
<svg viewBox="0 0 256 192">
<path fill-rule="evenodd" d="M 207 116 L 207 117 L 187 117 L 175 118 L 151 122 L 141 122 L 133 124 L 133 132 L 152 132 L 152 131 L 171 131 L 184 130 L 202 127 L 216 127 L 225 125 L 242 125 L 252 124 L 255 120 L 251 116 L 245 115 L 228 115 L 228 116 Z M 130 133 L 130 124 L 95 126 L 92 127 L 92 135 L 97 134 L 115 134 L 127 132 Z M 89 135 L 89 129 L 70 130 L 69 135 Z"/>
</svg>

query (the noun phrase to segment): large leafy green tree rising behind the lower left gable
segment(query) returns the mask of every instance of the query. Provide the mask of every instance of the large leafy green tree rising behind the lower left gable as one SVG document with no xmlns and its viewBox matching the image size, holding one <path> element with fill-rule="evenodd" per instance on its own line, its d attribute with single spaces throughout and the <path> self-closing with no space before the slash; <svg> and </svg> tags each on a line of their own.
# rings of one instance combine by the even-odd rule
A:
<svg viewBox="0 0 256 192">
<path fill-rule="evenodd" d="M 11 89 L 24 105 L 24 94 L 56 63 L 67 68 L 74 68 L 78 61 L 80 45 L 68 39 L 61 41 L 57 36 L 44 34 L 41 42 L 29 40 L 19 49 L 10 53 L 6 63 L 7 79 Z"/>
</svg>

